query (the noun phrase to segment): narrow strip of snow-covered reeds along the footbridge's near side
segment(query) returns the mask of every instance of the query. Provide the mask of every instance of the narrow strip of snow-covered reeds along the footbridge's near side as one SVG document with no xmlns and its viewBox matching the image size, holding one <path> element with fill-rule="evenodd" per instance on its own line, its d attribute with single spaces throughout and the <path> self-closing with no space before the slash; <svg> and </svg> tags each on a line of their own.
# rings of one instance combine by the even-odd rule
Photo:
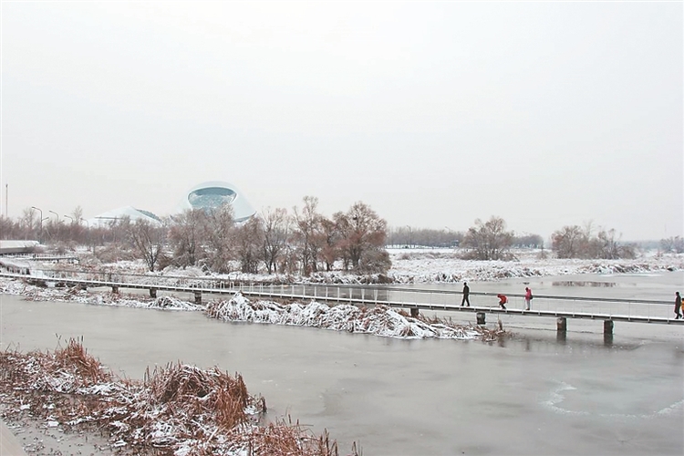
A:
<svg viewBox="0 0 684 456">
<path fill-rule="evenodd" d="M 503 330 L 482 326 L 456 325 L 448 320 L 411 317 L 388 306 L 359 308 L 327 306 L 316 301 L 309 304 L 280 305 L 274 301 L 250 301 L 237 293 L 229 300 L 217 300 L 207 306 L 195 305 L 176 297 L 154 299 L 140 295 L 90 293 L 78 286 L 43 288 L 21 281 L 0 279 L 0 293 L 23 295 L 33 301 L 70 301 L 96 306 L 128 306 L 164 310 L 203 311 L 207 316 L 224 321 L 268 323 L 273 325 L 312 326 L 380 337 L 445 338 L 484 341 L 503 337 Z"/>
</svg>

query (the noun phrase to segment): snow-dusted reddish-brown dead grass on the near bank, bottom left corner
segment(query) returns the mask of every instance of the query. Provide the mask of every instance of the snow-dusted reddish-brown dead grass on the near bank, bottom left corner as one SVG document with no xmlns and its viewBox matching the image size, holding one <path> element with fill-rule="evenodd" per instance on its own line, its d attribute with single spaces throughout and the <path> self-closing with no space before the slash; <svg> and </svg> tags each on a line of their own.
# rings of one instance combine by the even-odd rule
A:
<svg viewBox="0 0 684 456">
<path fill-rule="evenodd" d="M 327 432 L 314 435 L 291 419 L 259 425 L 265 399 L 218 368 L 176 363 L 148 369 L 141 381 L 118 378 L 70 339 L 52 354 L 0 352 L 0 379 L 5 414 L 100 430 L 119 454 L 338 454 Z M 350 454 L 358 455 L 356 445 Z"/>
</svg>

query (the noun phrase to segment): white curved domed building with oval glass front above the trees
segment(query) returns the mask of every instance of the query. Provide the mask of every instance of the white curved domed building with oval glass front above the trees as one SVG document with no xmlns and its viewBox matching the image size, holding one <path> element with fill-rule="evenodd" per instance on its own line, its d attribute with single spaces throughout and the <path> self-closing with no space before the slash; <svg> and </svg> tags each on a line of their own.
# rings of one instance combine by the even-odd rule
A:
<svg viewBox="0 0 684 456">
<path fill-rule="evenodd" d="M 207 181 L 195 185 L 185 193 L 178 206 L 178 212 L 188 209 L 215 209 L 225 203 L 233 207 L 235 222 L 244 222 L 256 213 L 243 193 L 226 181 Z"/>
</svg>

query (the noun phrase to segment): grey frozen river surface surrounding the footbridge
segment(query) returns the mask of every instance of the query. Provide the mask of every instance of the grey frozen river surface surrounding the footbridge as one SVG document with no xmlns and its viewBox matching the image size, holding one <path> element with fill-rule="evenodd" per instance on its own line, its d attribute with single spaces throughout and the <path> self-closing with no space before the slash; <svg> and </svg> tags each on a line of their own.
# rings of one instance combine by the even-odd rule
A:
<svg viewBox="0 0 684 456">
<path fill-rule="evenodd" d="M 627 285 L 557 288 L 669 300 L 684 288 L 682 278 L 615 276 L 611 282 Z M 542 295 L 543 284 L 605 280 L 546 277 L 531 286 Z M 521 285 L 473 283 L 472 290 L 513 293 Z M 4 348 L 52 349 L 56 335 L 84 337 L 91 354 L 130 378 L 176 360 L 240 372 L 250 392 L 265 397 L 271 419 L 289 414 L 316 432 L 326 428 L 342 454 L 354 440 L 367 456 L 684 453 L 681 326 L 617 323 L 606 343 L 600 322 L 571 320 L 559 339 L 553 319 L 503 316 L 515 336 L 486 344 L 228 324 L 201 313 L 12 295 L 0 295 L 0 304 Z"/>
</svg>

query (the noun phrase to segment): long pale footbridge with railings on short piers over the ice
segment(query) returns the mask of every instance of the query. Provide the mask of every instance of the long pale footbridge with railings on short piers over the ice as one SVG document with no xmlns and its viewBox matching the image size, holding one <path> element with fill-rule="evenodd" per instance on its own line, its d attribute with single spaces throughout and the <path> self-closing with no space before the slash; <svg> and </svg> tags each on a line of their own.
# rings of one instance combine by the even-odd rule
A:
<svg viewBox="0 0 684 456">
<path fill-rule="evenodd" d="M 684 326 L 684 319 L 675 319 L 673 304 L 655 300 L 609 299 L 577 296 L 534 295 L 531 310 L 523 308 L 523 295 L 507 294 L 510 301 L 506 309 L 498 306 L 491 293 L 473 293 L 488 306 L 461 306 L 461 293 L 453 290 L 421 290 L 391 285 L 331 285 L 331 284 L 255 284 L 234 282 L 214 277 L 171 275 L 122 274 L 103 271 L 32 270 L 30 274 L 0 272 L 0 276 L 21 279 L 42 286 L 110 288 L 112 293 L 121 289 L 149 290 L 150 297 L 159 291 L 188 293 L 194 302 L 202 304 L 202 295 L 233 295 L 277 300 L 299 300 L 353 306 L 390 306 L 408 309 L 411 316 L 420 311 L 475 313 L 477 323 L 486 323 L 487 314 L 531 317 L 554 317 L 559 332 L 567 330 L 567 319 L 590 319 L 603 322 L 604 334 L 612 334 L 615 322 L 649 323 Z M 519 308 L 518 308 L 519 306 Z"/>
</svg>

